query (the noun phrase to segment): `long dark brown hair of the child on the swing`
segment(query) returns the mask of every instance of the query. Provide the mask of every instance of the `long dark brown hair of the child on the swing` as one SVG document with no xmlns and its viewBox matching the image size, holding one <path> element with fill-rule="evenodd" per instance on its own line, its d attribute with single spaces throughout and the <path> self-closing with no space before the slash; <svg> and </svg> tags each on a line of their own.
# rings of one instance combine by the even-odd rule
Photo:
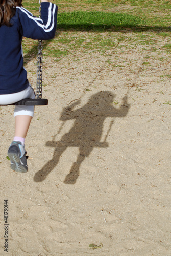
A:
<svg viewBox="0 0 171 256">
<path fill-rule="evenodd" d="M 0 0 L 0 26 L 11 26 L 10 19 L 15 15 L 16 6 L 22 6 L 22 0 Z"/>
</svg>

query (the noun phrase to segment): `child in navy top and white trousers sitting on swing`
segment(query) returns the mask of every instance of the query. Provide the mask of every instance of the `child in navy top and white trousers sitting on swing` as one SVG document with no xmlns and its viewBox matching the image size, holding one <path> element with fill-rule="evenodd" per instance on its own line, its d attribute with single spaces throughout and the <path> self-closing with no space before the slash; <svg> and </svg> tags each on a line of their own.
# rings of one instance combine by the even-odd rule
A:
<svg viewBox="0 0 171 256">
<path fill-rule="evenodd" d="M 0 105 L 25 98 L 35 98 L 23 67 L 22 37 L 48 40 L 55 36 L 57 10 L 55 4 L 41 0 L 41 18 L 22 7 L 22 0 L 0 0 Z M 34 106 L 15 106 L 15 136 L 8 156 L 16 172 L 28 170 L 25 138 L 34 114 Z"/>
</svg>

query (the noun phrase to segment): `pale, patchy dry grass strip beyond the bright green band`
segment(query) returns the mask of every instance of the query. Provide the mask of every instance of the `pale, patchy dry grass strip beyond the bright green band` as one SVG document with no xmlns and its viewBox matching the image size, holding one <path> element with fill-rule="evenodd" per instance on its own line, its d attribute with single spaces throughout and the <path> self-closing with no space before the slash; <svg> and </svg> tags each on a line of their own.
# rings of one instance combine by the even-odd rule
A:
<svg viewBox="0 0 171 256">
<path fill-rule="evenodd" d="M 73 11 L 107 11 L 126 13 L 146 19 L 148 26 L 167 27 L 170 22 L 171 2 L 167 0 L 52 0 L 59 7 L 59 13 Z M 23 5 L 38 15 L 38 1 L 25 0 Z M 124 9 L 123 9 L 124 7 Z M 132 8 L 130 8 L 132 7 Z"/>
</svg>

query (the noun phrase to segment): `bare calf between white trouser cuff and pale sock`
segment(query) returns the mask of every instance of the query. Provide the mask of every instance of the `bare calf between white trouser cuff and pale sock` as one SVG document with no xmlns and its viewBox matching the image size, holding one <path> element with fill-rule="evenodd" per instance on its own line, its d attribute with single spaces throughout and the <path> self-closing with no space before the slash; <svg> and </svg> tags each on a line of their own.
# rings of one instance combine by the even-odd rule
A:
<svg viewBox="0 0 171 256">
<path fill-rule="evenodd" d="M 18 115 L 15 116 L 15 136 L 26 138 L 32 116 Z"/>
</svg>

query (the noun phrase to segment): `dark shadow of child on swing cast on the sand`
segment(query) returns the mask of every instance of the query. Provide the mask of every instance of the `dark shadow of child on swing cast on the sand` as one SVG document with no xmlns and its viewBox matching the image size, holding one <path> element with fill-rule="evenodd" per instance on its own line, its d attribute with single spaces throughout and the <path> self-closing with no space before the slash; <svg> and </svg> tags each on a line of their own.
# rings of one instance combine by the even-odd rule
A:
<svg viewBox="0 0 171 256">
<path fill-rule="evenodd" d="M 74 126 L 62 136 L 60 141 L 48 141 L 46 143 L 46 146 L 55 147 L 54 156 L 35 174 L 35 182 L 41 182 L 47 177 L 58 164 L 60 156 L 67 147 L 76 146 L 79 148 L 77 161 L 72 164 L 71 170 L 64 180 L 66 184 L 76 183 L 80 165 L 93 148 L 108 147 L 106 138 L 104 142 L 100 142 L 104 120 L 107 117 L 124 117 L 128 113 L 127 97 L 123 98 L 120 108 L 115 108 L 112 105 L 113 100 L 114 95 L 111 92 L 101 91 L 92 95 L 87 104 L 80 109 L 73 110 L 79 101 L 73 103 L 69 108 L 63 109 L 60 120 L 75 119 Z"/>
</svg>

